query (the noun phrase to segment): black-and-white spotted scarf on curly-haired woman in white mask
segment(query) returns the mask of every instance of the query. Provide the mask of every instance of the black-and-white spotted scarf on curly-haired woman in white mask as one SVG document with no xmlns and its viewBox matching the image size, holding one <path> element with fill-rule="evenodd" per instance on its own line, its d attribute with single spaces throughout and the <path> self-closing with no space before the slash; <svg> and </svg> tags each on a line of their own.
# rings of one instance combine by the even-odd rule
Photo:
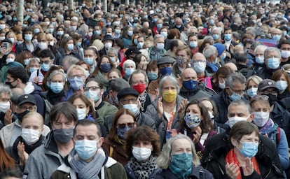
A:
<svg viewBox="0 0 290 179">
<path fill-rule="evenodd" d="M 137 179 L 148 179 L 156 169 L 156 157 L 152 155 L 146 162 L 137 162 L 134 157 L 131 157 L 129 163 Z"/>
</svg>

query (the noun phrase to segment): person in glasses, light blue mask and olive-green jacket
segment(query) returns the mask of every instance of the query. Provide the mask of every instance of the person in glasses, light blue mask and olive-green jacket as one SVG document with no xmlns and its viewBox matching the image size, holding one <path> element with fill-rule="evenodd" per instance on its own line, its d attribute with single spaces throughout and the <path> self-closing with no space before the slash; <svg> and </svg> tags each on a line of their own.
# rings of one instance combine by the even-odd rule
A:
<svg viewBox="0 0 290 179">
<path fill-rule="evenodd" d="M 90 78 L 85 83 L 85 96 L 94 102 L 96 122 L 104 124 L 104 118 L 114 115 L 118 108 L 102 99 L 104 85 L 97 78 Z"/>
</svg>

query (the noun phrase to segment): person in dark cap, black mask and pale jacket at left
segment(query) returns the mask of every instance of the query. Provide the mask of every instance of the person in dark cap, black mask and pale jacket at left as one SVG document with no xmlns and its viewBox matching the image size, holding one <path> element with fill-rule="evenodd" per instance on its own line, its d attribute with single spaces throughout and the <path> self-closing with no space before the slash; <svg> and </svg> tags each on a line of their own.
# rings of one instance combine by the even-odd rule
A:
<svg viewBox="0 0 290 179">
<path fill-rule="evenodd" d="M 13 146 L 16 138 L 18 138 L 18 136 L 21 136 L 22 120 L 23 117 L 29 112 L 36 112 L 36 101 L 34 96 L 32 96 L 31 94 L 23 94 L 18 97 L 18 103 L 15 113 L 15 115 L 17 116 L 17 120 L 15 120 L 15 122 L 12 122 L 11 124 L 6 125 L 0 130 L 0 138 L 3 141 L 3 145 L 5 148 Z M 49 132 L 49 127 L 43 125 L 43 131 L 41 131 L 41 134 L 43 134 L 43 136 L 46 136 Z"/>
</svg>

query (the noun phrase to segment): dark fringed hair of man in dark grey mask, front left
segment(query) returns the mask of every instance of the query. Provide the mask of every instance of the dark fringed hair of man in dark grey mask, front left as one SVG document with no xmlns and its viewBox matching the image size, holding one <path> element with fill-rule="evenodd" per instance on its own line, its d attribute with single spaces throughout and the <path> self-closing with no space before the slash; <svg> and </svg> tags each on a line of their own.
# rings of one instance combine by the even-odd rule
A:
<svg viewBox="0 0 290 179">
<path fill-rule="evenodd" d="M 50 124 L 53 122 L 60 120 L 60 117 L 64 115 L 67 117 L 69 122 L 78 122 L 78 114 L 76 113 L 76 108 L 69 102 L 61 102 L 55 104 L 53 108 L 51 108 L 49 117 L 50 117 Z"/>
</svg>

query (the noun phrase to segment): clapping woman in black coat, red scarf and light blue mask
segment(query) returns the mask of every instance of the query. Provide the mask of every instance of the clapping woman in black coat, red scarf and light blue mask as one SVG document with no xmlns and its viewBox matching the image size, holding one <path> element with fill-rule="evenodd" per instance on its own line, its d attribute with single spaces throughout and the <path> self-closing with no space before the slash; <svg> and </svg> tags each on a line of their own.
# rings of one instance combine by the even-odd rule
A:
<svg viewBox="0 0 290 179">
<path fill-rule="evenodd" d="M 214 146 L 207 148 L 207 144 L 202 166 L 214 178 L 284 178 L 275 143 L 259 134 L 255 124 L 237 122 L 230 132 L 213 136 L 209 142 Z"/>
</svg>

